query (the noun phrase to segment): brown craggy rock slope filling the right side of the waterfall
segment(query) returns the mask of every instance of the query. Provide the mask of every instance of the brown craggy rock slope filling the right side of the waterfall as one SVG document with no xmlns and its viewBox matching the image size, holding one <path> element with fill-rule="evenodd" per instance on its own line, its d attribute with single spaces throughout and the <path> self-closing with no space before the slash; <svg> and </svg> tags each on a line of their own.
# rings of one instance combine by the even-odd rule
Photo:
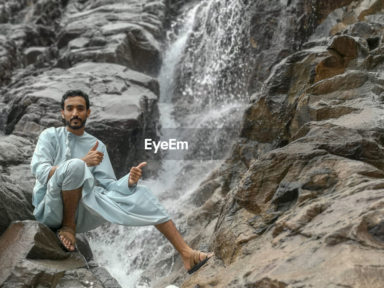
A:
<svg viewBox="0 0 384 288">
<path fill-rule="evenodd" d="M 368 2 L 350 8 L 380 19 Z M 214 259 L 163 283 L 382 286 L 383 24 L 354 22 L 272 68 L 230 157 L 192 196 L 187 238 Z"/>
</svg>

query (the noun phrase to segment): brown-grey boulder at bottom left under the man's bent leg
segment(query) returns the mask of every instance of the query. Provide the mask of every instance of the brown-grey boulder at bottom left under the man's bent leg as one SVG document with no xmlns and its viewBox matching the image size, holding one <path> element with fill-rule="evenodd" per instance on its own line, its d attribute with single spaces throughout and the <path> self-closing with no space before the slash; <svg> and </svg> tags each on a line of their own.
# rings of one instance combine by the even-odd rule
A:
<svg viewBox="0 0 384 288">
<path fill-rule="evenodd" d="M 88 243 L 78 238 L 80 246 Z M 89 270 L 78 250 L 64 252 L 55 233 L 36 221 L 12 222 L 0 237 L 0 268 L 0 286 L 4 288 L 121 287 L 102 267 Z"/>
</svg>

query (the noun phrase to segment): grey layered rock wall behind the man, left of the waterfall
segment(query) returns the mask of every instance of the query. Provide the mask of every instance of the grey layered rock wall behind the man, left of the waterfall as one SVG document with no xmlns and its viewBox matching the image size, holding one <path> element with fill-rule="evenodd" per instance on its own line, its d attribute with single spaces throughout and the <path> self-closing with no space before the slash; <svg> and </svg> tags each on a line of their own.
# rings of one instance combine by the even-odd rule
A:
<svg viewBox="0 0 384 288">
<path fill-rule="evenodd" d="M 156 131 L 159 117 L 159 84 L 147 75 L 161 65 L 166 3 L 5 1 L 0 10 L 1 136 L 32 141 L 21 161 L 12 151 L 25 143 L 2 140 L 13 149 L 0 156 L 2 172 L 33 180 L 26 164 L 34 143 L 43 129 L 63 125 L 61 95 L 77 88 L 90 95 L 86 129 L 108 146 L 116 176 L 146 158 L 143 130 Z"/>
</svg>

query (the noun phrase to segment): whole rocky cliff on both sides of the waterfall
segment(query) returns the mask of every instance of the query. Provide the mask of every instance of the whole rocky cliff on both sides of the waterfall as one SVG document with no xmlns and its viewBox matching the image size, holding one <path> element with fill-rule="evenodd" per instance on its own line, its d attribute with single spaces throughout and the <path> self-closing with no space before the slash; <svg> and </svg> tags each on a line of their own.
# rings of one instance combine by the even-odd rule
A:
<svg viewBox="0 0 384 288">
<path fill-rule="evenodd" d="M 153 272 L 161 263 L 144 273 L 156 287 L 381 287 L 384 1 L 251 6 L 244 81 L 257 93 L 230 156 L 184 209 L 187 242 L 215 257 L 188 277 L 178 259 L 166 277 Z M 108 145 L 116 171 L 127 170 L 141 131 L 158 125 L 169 9 L 164 1 L 0 2 L 2 287 L 119 287 L 84 235 L 69 255 L 31 221 L 29 162 L 40 132 L 61 126 L 60 96 L 79 88 L 92 95 L 87 131 Z"/>
</svg>

